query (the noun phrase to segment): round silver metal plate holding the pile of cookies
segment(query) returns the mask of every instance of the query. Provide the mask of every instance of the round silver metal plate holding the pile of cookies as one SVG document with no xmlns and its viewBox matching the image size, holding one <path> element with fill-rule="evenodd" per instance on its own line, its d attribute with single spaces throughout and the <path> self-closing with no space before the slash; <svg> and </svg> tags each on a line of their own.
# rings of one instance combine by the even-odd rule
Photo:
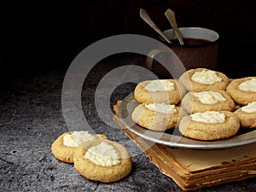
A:
<svg viewBox="0 0 256 192">
<path fill-rule="evenodd" d="M 137 105 L 138 103 L 133 96 L 133 92 L 129 96 L 126 96 L 119 107 L 119 121 L 132 133 L 153 143 L 160 143 L 173 148 L 220 149 L 232 148 L 256 142 L 256 130 L 239 132 L 235 137 L 210 142 L 197 141 L 183 137 L 178 131 L 178 128 L 172 132 L 151 131 L 135 124 L 132 121 L 131 113 Z"/>
</svg>

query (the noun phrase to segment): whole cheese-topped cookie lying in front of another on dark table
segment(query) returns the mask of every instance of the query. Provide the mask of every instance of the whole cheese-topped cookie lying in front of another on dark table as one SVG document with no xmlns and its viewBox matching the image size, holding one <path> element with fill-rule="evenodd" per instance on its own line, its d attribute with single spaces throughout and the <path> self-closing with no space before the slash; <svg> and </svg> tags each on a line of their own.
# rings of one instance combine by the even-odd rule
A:
<svg viewBox="0 0 256 192">
<path fill-rule="evenodd" d="M 80 146 L 74 168 L 87 179 L 102 183 L 119 181 L 131 172 L 131 154 L 113 141 L 95 141 Z"/>
</svg>

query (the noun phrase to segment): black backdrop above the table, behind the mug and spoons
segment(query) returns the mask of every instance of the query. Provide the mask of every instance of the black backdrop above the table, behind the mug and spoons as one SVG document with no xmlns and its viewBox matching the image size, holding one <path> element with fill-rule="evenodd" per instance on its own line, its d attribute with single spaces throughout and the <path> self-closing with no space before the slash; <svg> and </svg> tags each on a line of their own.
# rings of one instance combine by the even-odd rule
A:
<svg viewBox="0 0 256 192">
<path fill-rule="evenodd" d="M 161 30 L 175 11 L 178 26 L 211 28 L 220 35 L 219 68 L 255 75 L 256 3 L 244 0 L 1 1 L 2 81 L 55 69 L 66 70 L 86 46 L 109 36 L 157 35 L 139 17 L 148 14 Z M 238 75 L 239 75 L 238 74 Z"/>
</svg>

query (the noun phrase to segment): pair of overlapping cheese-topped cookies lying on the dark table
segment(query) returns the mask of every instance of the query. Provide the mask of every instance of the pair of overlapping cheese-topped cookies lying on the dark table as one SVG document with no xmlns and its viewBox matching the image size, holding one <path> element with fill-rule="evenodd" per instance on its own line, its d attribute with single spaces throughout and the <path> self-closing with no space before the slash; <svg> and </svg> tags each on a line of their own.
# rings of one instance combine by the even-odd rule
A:
<svg viewBox="0 0 256 192">
<path fill-rule="evenodd" d="M 51 145 L 57 160 L 74 164 L 87 179 L 111 183 L 131 172 L 131 155 L 121 144 L 88 131 L 65 132 Z"/>
</svg>

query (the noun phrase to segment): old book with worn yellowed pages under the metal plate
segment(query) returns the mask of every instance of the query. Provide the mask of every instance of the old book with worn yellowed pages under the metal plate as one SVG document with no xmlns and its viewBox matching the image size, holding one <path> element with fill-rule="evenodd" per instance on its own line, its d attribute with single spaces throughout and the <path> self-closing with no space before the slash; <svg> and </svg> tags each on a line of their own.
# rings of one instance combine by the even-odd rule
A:
<svg viewBox="0 0 256 192">
<path fill-rule="evenodd" d="M 118 107 L 119 102 L 113 107 L 115 112 Z M 113 119 L 142 148 L 160 172 L 172 177 L 183 190 L 201 189 L 256 176 L 256 143 L 218 150 L 171 148 L 137 137 L 120 123 L 116 115 Z"/>
</svg>

